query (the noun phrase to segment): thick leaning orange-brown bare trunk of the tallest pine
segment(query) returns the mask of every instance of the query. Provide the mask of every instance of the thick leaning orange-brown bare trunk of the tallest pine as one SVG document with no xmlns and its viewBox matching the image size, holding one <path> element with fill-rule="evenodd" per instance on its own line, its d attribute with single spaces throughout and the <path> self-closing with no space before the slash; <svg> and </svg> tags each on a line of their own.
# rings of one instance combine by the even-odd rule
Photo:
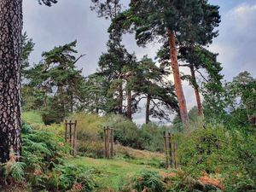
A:
<svg viewBox="0 0 256 192">
<path fill-rule="evenodd" d="M 179 106 L 180 117 L 182 119 L 183 125 L 187 127 L 189 117 L 188 117 L 186 100 L 183 94 L 183 86 L 182 86 L 182 81 L 180 79 L 179 68 L 177 63 L 177 47 L 175 42 L 175 35 L 174 35 L 174 32 L 171 32 L 171 31 L 168 32 L 168 35 L 169 35 L 172 73 L 174 78 L 175 91 L 177 94 L 177 102 Z"/>
</svg>

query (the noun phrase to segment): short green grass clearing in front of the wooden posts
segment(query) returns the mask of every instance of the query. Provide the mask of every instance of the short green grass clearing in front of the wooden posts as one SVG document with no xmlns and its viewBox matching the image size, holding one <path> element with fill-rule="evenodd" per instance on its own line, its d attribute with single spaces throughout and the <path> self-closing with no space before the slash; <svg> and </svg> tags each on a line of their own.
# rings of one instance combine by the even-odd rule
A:
<svg viewBox="0 0 256 192">
<path fill-rule="evenodd" d="M 137 164 L 140 160 L 105 160 L 92 159 L 88 157 L 70 158 L 68 161 L 78 166 L 84 166 L 88 169 L 95 170 L 96 183 L 99 190 L 114 189 L 118 190 L 122 187 L 129 177 L 142 172 L 143 170 L 163 172 L 164 169 L 155 168 L 154 166 Z"/>
</svg>

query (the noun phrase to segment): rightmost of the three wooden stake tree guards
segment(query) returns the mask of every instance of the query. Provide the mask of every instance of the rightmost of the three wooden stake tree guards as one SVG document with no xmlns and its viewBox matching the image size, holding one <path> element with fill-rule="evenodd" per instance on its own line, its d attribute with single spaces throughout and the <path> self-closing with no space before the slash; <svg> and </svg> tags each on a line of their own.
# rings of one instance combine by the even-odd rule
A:
<svg viewBox="0 0 256 192">
<path fill-rule="evenodd" d="M 164 148 L 166 153 L 166 168 L 177 168 L 177 143 L 174 135 L 164 131 Z"/>
</svg>

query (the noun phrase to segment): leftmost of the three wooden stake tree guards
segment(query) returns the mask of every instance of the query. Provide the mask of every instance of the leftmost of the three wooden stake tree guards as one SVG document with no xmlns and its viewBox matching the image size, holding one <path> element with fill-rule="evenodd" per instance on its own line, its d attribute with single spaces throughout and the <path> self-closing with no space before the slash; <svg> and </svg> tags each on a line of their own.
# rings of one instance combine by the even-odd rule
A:
<svg viewBox="0 0 256 192">
<path fill-rule="evenodd" d="M 77 120 L 74 122 L 65 120 L 65 142 L 70 144 L 70 147 L 72 148 L 70 154 L 74 157 L 77 155 L 77 123 Z"/>
</svg>

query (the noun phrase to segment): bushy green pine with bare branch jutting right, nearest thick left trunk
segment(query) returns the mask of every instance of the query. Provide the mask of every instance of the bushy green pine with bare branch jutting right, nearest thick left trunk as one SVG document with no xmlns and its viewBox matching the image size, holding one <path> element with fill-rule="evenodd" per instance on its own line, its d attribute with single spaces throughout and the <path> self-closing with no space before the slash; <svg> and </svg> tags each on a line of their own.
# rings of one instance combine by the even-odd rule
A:
<svg viewBox="0 0 256 192">
<path fill-rule="evenodd" d="M 76 69 L 75 63 L 83 56 L 76 58 L 74 54 L 77 42 L 55 47 L 44 52 L 44 61 L 29 70 L 27 77 L 30 85 L 44 90 L 51 96 L 51 105 L 45 115 L 56 114 L 57 122 L 67 113 L 72 113 L 79 105 L 82 97 L 81 87 L 84 83 L 82 71 Z"/>
</svg>

